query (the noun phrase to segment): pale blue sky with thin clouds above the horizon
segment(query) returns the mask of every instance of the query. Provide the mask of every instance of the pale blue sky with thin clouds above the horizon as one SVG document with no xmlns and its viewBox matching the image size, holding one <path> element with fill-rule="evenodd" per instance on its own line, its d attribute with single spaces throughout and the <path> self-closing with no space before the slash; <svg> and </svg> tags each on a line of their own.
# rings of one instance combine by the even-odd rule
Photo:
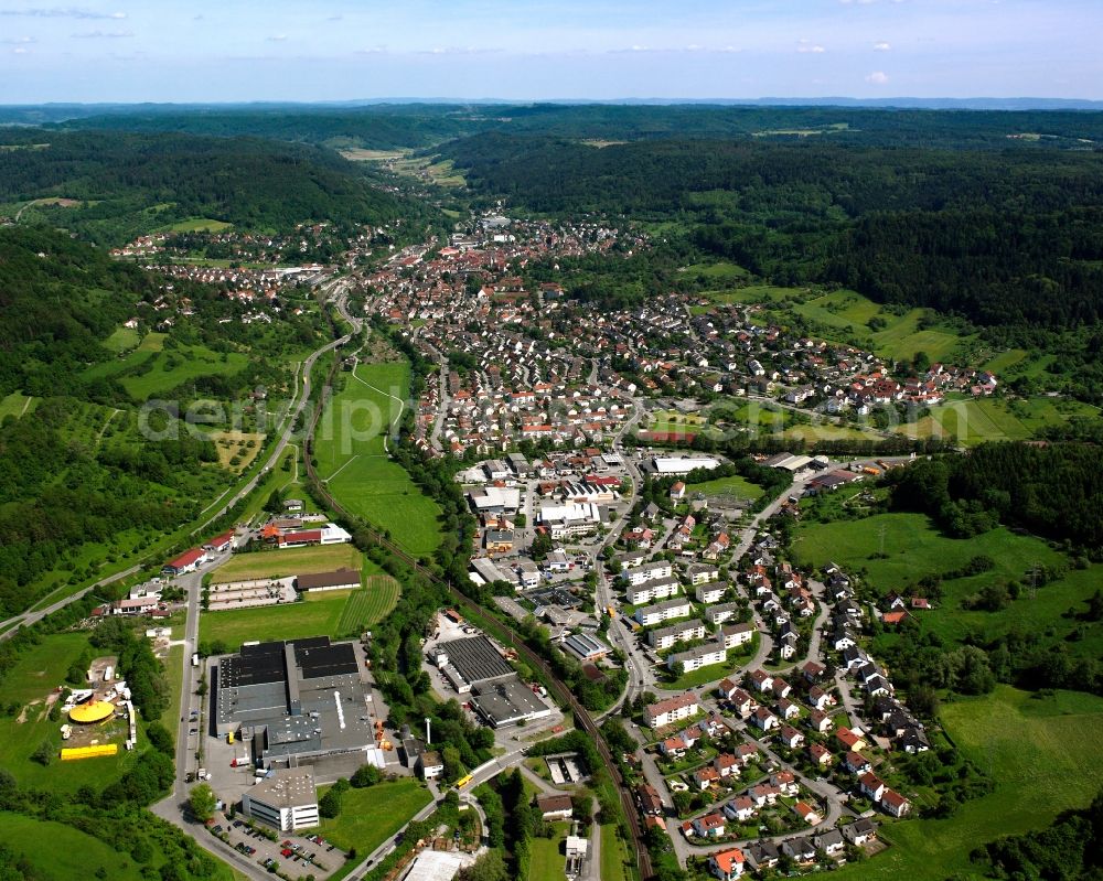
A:
<svg viewBox="0 0 1103 881">
<path fill-rule="evenodd" d="M 0 104 L 1103 99 L 1103 0 L 0 0 Z"/>
</svg>

